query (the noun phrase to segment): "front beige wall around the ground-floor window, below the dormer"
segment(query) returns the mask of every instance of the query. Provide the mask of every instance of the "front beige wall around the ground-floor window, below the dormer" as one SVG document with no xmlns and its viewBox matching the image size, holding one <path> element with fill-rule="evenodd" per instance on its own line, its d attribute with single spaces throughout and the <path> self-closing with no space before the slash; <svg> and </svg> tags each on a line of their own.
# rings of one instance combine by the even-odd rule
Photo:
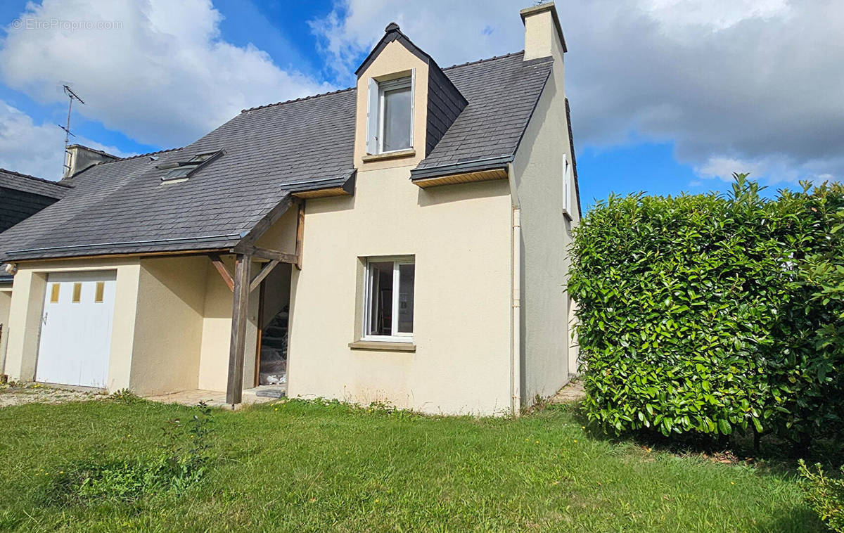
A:
<svg viewBox="0 0 844 533">
<path fill-rule="evenodd" d="M 303 266 L 293 275 L 289 396 L 509 411 L 506 180 L 423 190 L 409 170 L 361 172 L 354 197 L 308 201 Z M 415 352 L 349 347 L 360 339 L 360 259 L 376 256 L 414 256 Z"/>
</svg>

